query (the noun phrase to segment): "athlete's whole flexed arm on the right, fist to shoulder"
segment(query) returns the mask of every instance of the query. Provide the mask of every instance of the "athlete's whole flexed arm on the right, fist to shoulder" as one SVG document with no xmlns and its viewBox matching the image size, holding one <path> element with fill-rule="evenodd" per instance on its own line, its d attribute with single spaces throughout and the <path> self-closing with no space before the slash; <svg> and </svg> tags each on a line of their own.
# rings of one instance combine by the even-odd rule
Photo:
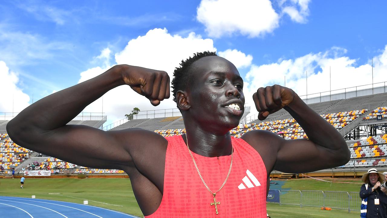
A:
<svg viewBox="0 0 387 218">
<path fill-rule="evenodd" d="M 293 90 L 274 85 L 259 88 L 253 99 L 259 119 L 284 108 L 300 124 L 309 139 L 284 140 L 274 133 L 258 133 L 277 148 L 274 169 L 300 173 L 332 168 L 348 163 L 350 152 L 340 133 L 310 109 Z"/>
</svg>

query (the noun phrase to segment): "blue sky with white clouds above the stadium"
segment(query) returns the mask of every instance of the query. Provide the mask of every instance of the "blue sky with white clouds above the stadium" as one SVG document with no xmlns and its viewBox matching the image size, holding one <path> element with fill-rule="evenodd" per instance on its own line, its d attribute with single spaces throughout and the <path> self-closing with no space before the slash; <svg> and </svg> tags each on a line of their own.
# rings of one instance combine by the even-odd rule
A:
<svg viewBox="0 0 387 218">
<path fill-rule="evenodd" d="M 308 93 L 325 92 L 328 66 L 337 80 L 332 89 L 369 84 L 372 57 L 374 81 L 387 81 L 386 6 L 360 0 L 2 1 L 0 92 L 8 103 L 0 103 L 0 112 L 19 112 L 32 96 L 36 101 L 115 64 L 171 75 L 179 60 L 201 50 L 216 50 L 238 65 L 245 95 L 283 85 L 284 76 L 287 87 L 305 95 L 306 71 Z M 109 120 L 133 107 L 175 107 L 167 100 L 155 108 L 132 95 L 126 87 L 104 96 Z M 101 105 L 97 100 L 85 112 L 101 112 Z"/>
</svg>

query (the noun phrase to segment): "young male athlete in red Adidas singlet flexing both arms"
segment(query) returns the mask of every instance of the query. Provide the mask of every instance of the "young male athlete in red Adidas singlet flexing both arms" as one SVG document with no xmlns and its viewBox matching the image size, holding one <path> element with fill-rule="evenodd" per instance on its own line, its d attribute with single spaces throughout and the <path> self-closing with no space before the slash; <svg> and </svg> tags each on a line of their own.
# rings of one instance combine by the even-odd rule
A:
<svg viewBox="0 0 387 218">
<path fill-rule="evenodd" d="M 9 121 L 8 134 L 23 147 L 71 163 L 124 170 L 142 213 L 150 218 L 265 218 L 272 170 L 309 172 L 349 160 L 339 132 L 289 88 L 257 90 L 253 100 L 259 119 L 284 108 L 309 139 L 284 140 L 261 130 L 237 139 L 229 130 L 239 124 L 245 97 L 236 67 L 215 53 L 203 52 L 182 62 L 174 76 L 173 97 L 187 134 L 164 138 L 139 128 L 102 131 L 66 125 L 120 85 L 129 85 L 154 106 L 170 97 L 165 72 L 128 65 L 114 66 L 35 102 Z"/>
</svg>

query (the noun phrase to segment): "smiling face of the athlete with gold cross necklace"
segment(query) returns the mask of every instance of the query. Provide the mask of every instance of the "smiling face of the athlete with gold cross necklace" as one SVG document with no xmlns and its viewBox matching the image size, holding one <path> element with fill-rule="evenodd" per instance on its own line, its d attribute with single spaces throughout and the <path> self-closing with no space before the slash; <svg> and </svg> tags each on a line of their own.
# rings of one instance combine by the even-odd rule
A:
<svg viewBox="0 0 387 218">
<path fill-rule="evenodd" d="M 191 116 L 208 131 L 228 131 L 237 126 L 245 97 L 236 67 L 222 57 L 203 57 L 192 64 L 190 75 L 187 93 Z"/>
</svg>

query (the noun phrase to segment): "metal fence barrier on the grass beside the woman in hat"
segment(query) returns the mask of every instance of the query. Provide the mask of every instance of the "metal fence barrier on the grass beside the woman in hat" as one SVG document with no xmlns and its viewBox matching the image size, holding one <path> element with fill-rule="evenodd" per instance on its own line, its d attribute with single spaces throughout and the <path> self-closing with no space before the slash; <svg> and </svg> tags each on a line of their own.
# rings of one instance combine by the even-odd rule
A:
<svg viewBox="0 0 387 218">
<path fill-rule="evenodd" d="M 334 192 L 315 190 L 279 190 L 279 204 L 360 211 L 359 192 Z"/>
</svg>

